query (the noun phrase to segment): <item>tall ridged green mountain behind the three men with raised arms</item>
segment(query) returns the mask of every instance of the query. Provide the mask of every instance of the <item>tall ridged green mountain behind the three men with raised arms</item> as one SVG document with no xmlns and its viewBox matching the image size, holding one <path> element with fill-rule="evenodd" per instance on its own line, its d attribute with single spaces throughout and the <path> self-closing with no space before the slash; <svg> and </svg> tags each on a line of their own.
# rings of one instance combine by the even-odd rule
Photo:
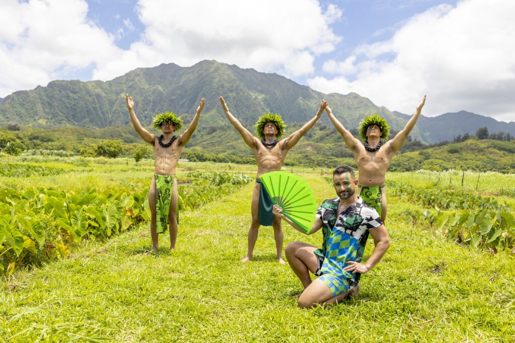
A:
<svg viewBox="0 0 515 343">
<path fill-rule="evenodd" d="M 204 97 L 207 102 L 200 125 L 225 127 L 229 122 L 218 103 L 220 95 L 248 129 L 266 112 L 281 114 L 287 124 L 306 122 L 315 115 L 322 98 L 330 102 L 336 117 L 349 129 L 356 128 L 365 115 L 373 113 L 385 116 L 394 131 L 401 130 L 406 122 L 355 93 L 325 95 L 277 74 L 202 61 L 192 67 L 170 63 L 138 68 L 107 82 L 52 81 L 46 87 L 15 92 L 0 103 L 0 125 L 123 126 L 129 122 L 126 93 L 134 98 L 136 114 L 144 125 L 163 111 L 174 111 L 189 121 Z M 325 115 L 321 121 L 329 123 Z M 412 136 L 425 141 L 417 128 Z"/>
</svg>

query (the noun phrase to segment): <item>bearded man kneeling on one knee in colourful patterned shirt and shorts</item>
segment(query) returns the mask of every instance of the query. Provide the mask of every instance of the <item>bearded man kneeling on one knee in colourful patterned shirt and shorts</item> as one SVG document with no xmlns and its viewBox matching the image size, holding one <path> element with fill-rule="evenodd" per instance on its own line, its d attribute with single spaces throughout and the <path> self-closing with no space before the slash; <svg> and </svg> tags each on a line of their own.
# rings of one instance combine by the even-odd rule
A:
<svg viewBox="0 0 515 343">
<path fill-rule="evenodd" d="M 325 306 L 347 296 L 357 296 L 359 277 L 372 269 L 390 246 L 388 232 L 377 211 L 354 193 L 358 183 L 354 170 L 349 166 L 337 167 L 333 182 L 338 197 L 320 205 L 315 223 L 307 233 L 322 228 L 322 248 L 291 242 L 285 249 L 291 269 L 304 286 L 298 302 L 301 308 Z M 282 214 L 280 206 L 274 205 L 272 212 L 304 233 Z M 375 248 L 367 262 L 362 263 L 369 232 Z M 318 278 L 312 282 L 309 272 Z"/>
</svg>

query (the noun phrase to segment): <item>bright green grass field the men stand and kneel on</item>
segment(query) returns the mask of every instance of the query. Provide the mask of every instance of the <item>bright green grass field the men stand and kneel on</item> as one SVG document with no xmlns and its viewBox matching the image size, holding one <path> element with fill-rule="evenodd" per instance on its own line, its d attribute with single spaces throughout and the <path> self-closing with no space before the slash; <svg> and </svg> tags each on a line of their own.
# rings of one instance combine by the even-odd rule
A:
<svg viewBox="0 0 515 343">
<path fill-rule="evenodd" d="M 2 184 L 116 185 L 130 175 L 148 183 L 151 161 L 134 167 L 124 159 L 55 160 L 38 163 L 82 171 L 39 177 L 0 177 Z M 67 167 L 68 166 L 68 167 Z M 255 176 L 255 166 L 182 163 L 188 170 L 227 170 Z M 317 201 L 334 197 L 330 169 L 286 168 L 300 173 Z M 413 185 L 440 183 L 460 189 L 461 172 L 389 173 Z M 454 181 L 454 178 L 459 177 Z M 514 175 L 480 176 L 477 192 L 508 198 Z M 466 174 L 464 191 L 476 192 L 477 174 Z M 447 185 L 445 183 L 447 182 Z M 488 185 L 488 186 L 487 186 Z M 253 185 L 181 216 L 177 248 L 149 251 L 148 224 L 107 241 L 83 241 L 64 260 L 19 270 L 2 282 L 0 340 L 25 341 L 513 341 L 515 256 L 448 242 L 420 221 L 406 223 L 402 197 L 388 198 L 390 249 L 361 279 L 360 297 L 327 309 L 302 310 L 292 295 L 302 286 L 289 266 L 275 259 L 273 232 L 262 227 L 254 259 L 242 264 L 250 224 Z M 510 188 L 511 187 L 511 188 Z M 283 223 L 285 245 L 320 246 L 322 234 L 304 236 Z M 372 251 L 369 241 L 365 260 Z"/>
</svg>

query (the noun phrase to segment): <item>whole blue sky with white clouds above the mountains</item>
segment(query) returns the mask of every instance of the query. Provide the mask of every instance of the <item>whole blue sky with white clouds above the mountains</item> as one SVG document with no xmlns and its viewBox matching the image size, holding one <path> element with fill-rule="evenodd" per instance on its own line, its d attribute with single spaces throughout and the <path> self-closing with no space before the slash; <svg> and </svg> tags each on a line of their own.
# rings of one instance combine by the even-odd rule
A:
<svg viewBox="0 0 515 343">
<path fill-rule="evenodd" d="M 0 97 L 204 59 L 390 110 L 515 120 L 512 0 L 2 0 Z"/>
</svg>

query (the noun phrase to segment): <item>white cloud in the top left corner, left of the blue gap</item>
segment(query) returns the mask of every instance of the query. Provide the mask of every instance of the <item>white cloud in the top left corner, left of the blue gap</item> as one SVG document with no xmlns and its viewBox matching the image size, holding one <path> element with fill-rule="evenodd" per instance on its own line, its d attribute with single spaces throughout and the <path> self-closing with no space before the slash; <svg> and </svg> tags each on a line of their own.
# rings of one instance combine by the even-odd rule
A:
<svg viewBox="0 0 515 343">
<path fill-rule="evenodd" d="M 87 19 L 82 0 L 3 0 L 0 96 L 46 85 L 118 55 L 114 37 Z"/>
</svg>

